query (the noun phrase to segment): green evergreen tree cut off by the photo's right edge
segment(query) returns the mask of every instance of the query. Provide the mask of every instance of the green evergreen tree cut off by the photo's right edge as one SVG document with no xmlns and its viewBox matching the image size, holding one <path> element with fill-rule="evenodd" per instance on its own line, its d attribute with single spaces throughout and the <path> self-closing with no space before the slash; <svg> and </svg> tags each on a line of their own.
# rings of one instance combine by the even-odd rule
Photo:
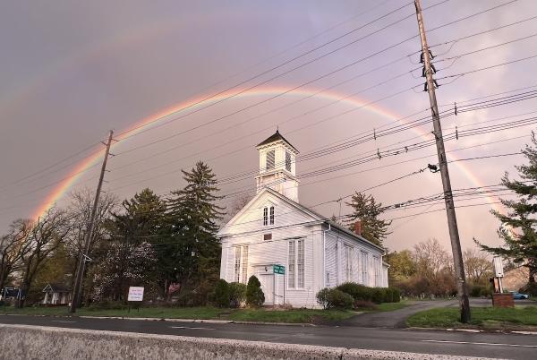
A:
<svg viewBox="0 0 537 360">
<path fill-rule="evenodd" d="M 522 150 L 528 164 L 517 166 L 516 170 L 521 180 L 510 180 L 509 175 L 502 177 L 501 183 L 507 189 L 516 193 L 516 200 L 500 199 L 508 209 L 507 214 L 498 210 L 490 212 L 499 219 L 501 225 L 498 235 L 505 242 L 505 246 L 488 246 L 474 241 L 489 253 L 512 258 L 516 262 L 524 262 L 529 269 L 528 282 L 535 282 L 537 275 L 537 140 L 532 132 L 532 146 L 526 145 Z"/>
</svg>

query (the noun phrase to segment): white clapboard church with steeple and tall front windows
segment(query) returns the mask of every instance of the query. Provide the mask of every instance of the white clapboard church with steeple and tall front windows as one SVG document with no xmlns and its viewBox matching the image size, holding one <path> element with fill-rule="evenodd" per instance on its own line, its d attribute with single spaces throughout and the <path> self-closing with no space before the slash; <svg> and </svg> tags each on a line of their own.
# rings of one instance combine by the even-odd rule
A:
<svg viewBox="0 0 537 360">
<path fill-rule="evenodd" d="M 320 307 L 324 287 L 388 287 L 382 248 L 299 203 L 298 150 L 279 132 L 257 150 L 257 194 L 217 234 L 220 278 L 247 283 L 255 275 L 265 304 L 308 308 Z"/>
</svg>

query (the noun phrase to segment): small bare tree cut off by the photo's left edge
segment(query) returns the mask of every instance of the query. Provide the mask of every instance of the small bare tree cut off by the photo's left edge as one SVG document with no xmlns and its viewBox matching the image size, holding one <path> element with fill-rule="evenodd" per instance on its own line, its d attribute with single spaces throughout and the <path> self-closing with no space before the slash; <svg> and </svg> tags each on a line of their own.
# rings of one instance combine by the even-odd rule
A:
<svg viewBox="0 0 537 360">
<path fill-rule="evenodd" d="M 0 237 L 0 289 L 7 278 L 21 267 L 21 258 L 30 249 L 24 246 L 31 231 L 31 221 L 18 219 L 9 227 L 8 234 Z"/>
</svg>

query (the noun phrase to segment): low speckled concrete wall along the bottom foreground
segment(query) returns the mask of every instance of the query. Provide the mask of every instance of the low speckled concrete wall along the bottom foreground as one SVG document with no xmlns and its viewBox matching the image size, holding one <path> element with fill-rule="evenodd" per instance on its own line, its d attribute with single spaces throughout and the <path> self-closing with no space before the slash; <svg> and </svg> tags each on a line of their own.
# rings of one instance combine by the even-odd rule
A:
<svg viewBox="0 0 537 360">
<path fill-rule="evenodd" d="M 1 358 L 455 359 L 456 356 L 0 324 Z"/>
</svg>

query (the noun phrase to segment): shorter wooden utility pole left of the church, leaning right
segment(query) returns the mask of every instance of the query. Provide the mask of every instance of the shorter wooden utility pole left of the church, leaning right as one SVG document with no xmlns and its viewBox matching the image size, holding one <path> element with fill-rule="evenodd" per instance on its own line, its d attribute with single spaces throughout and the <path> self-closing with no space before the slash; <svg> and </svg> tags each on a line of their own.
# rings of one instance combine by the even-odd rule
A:
<svg viewBox="0 0 537 360">
<path fill-rule="evenodd" d="M 107 159 L 108 159 L 108 155 L 110 154 L 110 145 L 112 144 L 113 135 L 114 135 L 114 131 L 110 130 L 110 133 L 108 134 L 108 141 L 105 144 L 107 146 L 107 150 L 105 150 L 105 159 L 103 159 L 101 173 L 100 173 L 100 176 L 98 177 L 97 192 L 95 193 L 95 199 L 93 201 L 93 208 L 91 208 L 90 222 L 88 223 L 86 234 L 84 236 L 84 252 L 81 253 L 81 259 L 79 261 L 78 271 L 76 272 L 76 279 L 74 281 L 74 289 L 72 291 L 71 308 L 69 309 L 69 313 L 76 312 L 76 307 L 78 306 L 80 299 L 81 299 L 82 279 L 84 278 L 84 270 L 86 270 L 85 269 L 86 260 L 89 259 L 88 253 L 90 252 L 90 242 L 91 242 L 91 236 L 93 235 L 93 225 L 95 223 L 95 217 L 97 215 L 98 198 L 100 197 L 101 187 L 103 185 L 103 180 L 105 177 L 105 171 L 107 170 Z"/>
</svg>

